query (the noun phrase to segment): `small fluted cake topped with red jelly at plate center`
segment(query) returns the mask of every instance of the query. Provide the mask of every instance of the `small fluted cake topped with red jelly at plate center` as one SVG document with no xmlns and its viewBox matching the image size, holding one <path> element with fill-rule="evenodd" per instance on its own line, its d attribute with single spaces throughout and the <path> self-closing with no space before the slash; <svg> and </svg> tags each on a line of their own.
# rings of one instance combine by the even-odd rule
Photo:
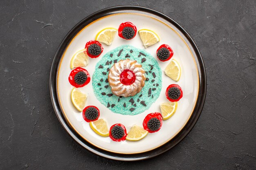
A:
<svg viewBox="0 0 256 170">
<path fill-rule="evenodd" d="M 144 87 L 146 76 L 136 60 L 120 60 L 110 68 L 108 82 L 117 96 L 134 96 Z"/>
</svg>

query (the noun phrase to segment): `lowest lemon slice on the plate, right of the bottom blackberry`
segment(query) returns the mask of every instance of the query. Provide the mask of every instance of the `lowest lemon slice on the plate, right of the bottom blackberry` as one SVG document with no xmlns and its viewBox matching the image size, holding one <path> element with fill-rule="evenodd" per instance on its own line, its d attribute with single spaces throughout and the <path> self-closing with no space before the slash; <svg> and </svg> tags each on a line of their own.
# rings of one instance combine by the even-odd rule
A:
<svg viewBox="0 0 256 170">
<path fill-rule="evenodd" d="M 138 125 L 134 125 L 130 129 L 130 132 L 126 136 L 126 139 L 128 141 L 139 141 L 139 140 L 143 139 L 146 135 L 148 135 L 147 130 L 145 130 L 144 128 L 142 128 Z"/>
</svg>

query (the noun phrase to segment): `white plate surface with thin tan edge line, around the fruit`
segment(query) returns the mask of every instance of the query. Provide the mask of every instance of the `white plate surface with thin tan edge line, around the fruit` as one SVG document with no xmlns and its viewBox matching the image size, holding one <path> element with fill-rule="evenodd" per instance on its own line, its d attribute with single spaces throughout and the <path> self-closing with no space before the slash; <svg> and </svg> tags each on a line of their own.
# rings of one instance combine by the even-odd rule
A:
<svg viewBox="0 0 256 170">
<path fill-rule="evenodd" d="M 160 104 L 163 102 L 168 102 L 168 99 L 166 99 L 165 96 L 165 91 L 168 85 L 178 84 L 181 86 L 183 90 L 183 97 L 178 102 L 176 113 L 170 119 L 163 121 L 162 128 L 158 132 L 149 133 L 140 141 L 126 140 L 122 142 L 115 142 L 109 137 L 101 137 L 97 135 L 90 128 L 89 123 L 84 121 L 82 113 L 74 108 L 70 99 L 73 86 L 68 82 L 68 76 L 71 72 L 70 60 L 76 51 L 84 49 L 86 42 L 94 40 L 95 35 L 101 29 L 106 27 L 115 27 L 118 29 L 119 24 L 128 21 L 135 24 L 138 30 L 150 29 L 155 31 L 155 33 L 159 35 L 160 42 L 148 47 L 147 49 L 144 49 L 138 33 L 132 40 L 124 40 L 116 34 L 115 39 L 110 46 L 102 44 L 104 50 L 100 57 L 89 59 L 89 64 L 85 67 L 85 69 L 90 73 L 91 77 L 94 73 L 95 65 L 97 62 L 99 62 L 100 58 L 107 52 L 117 48 L 120 45 L 130 44 L 138 49 L 144 49 L 156 58 L 155 53 L 157 48 L 161 44 L 168 44 L 173 49 L 173 59 L 177 60 L 182 68 L 180 80 L 175 82 L 167 77 L 164 73 L 164 69 L 171 60 L 161 62 L 157 59 L 159 66 L 162 68 L 162 91 L 159 98 L 150 106 L 148 110 L 138 115 L 121 115 L 118 113 L 113 113 L 110 109 L 106 108 L 106 106 L 103 106 L 103 104 L 101 104 L 95 97 L 92 90 L 92 80 L 88 85 L 79 88 L 80 91 L 88 95 L 86 106 L 97 106 L 101 111 L 99 119 L 106 119 L 109 128 L 113 124 L 121 123 L 126 127 L 127 132 L 129 132 L 130 128 L 134 124 L 142 126 L 144 118 L 149 113 L 161 113 Z M 202 88 L 202 84 L 200 83 L 202 81 L 201 72 L 202 70 L 204 71 L 204 68 L 201 69 L 200 63 L 198 63 L 198 54 L 200 55 L 200 53 L 195 51 L 193 48 L 194 44 L 189 42 L 188 38 L 177 28 L 177 26 L 152 13 L 127 9 L 122 10 L 121 12 L 102 15 L 97 20 L 83 26 L 83 28 L 80 26 L 80 30 L 72 31 L 75 31 L 75 36 L 70 38 L 69 42 L 65 43 L 65 48 L 63 47 L 63 53 L 58 62 L 58 67 L 56 70 L 56 92 L 62 115 L 70 128 L 76 134 L 78 134 L 83 140 L 87 141 L 92 146 L 100 148 L 101 150 L 121 154 L 135 154 L 154 150 L 155 148 L 163 146 L 171 141 L 175 135 L 181 132 L 182 128 L 184 128 L 191 118 L 191 115 L 193 115 L 196 104 L 198 104 L 200 88 Z M 200 104 L 202 105 L 203 102 Z"/>
</svg>

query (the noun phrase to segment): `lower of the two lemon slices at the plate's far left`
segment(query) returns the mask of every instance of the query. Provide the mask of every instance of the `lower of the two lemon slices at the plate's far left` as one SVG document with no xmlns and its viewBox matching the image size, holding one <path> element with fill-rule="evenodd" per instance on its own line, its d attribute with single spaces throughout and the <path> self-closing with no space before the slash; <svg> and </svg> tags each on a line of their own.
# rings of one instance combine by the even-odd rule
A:
<svg viewBox="0 0 256 170">
<path fill-rule="evenodd" d="M 71 92 L 71 101 L 76 109 L 80 112 L 83 111 L 83 108 L 85 107 L 86 99 L 87 95 L 81 93 L 81 91 L 77 90 L 76 88 L 73 88 Z"/>
</svg>

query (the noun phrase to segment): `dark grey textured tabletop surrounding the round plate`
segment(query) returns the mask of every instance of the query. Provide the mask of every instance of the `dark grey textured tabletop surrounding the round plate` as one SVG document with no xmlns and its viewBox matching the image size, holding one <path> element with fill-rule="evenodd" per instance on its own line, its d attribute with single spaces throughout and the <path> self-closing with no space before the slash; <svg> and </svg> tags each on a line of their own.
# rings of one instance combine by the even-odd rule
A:
<svg viewBox="0 0 256 170">
<path fill-rule="evenodd" d="M 61 40 L 110 6 L 150 7 L 186 29 L 207 71 L 207 98 L 189 135 L 153 159 L 111 161 L 81 148 L 59 123 L 49 73 Z M 0 169 L 256 169 L 255 0 L 1 0 Z"/>
</svg>

